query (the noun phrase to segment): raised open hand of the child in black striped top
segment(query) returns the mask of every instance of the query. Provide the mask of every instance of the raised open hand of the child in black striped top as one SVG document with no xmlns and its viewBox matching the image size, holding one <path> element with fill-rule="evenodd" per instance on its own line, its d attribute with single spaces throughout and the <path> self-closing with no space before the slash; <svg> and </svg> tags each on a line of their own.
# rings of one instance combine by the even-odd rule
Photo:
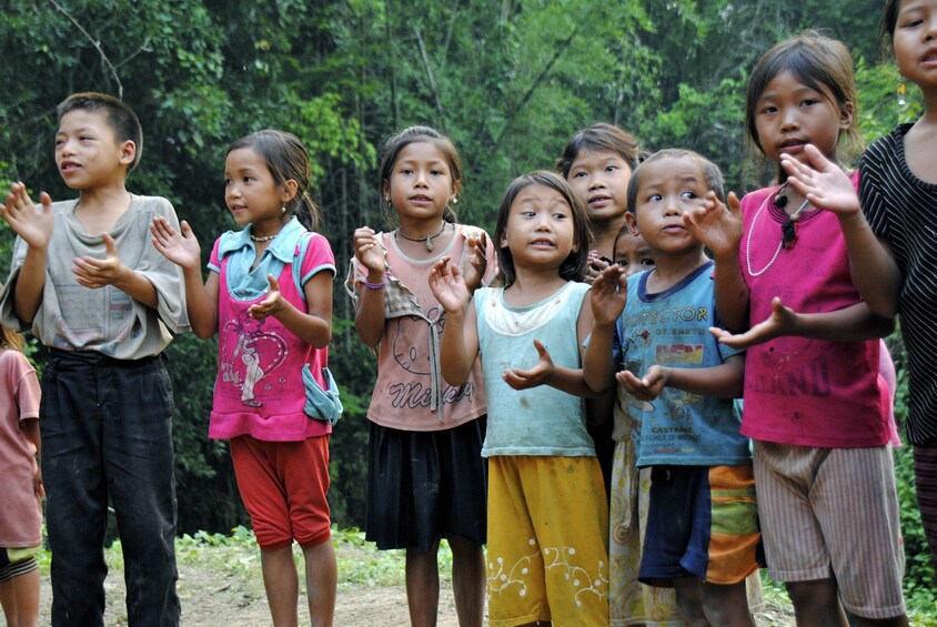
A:
<svg viewBox="0 0 937 627">
<path fill-rule="evenodd" d="M 789 154 L 780 155 L 780 165 L 788 174 L 787 182 L 790 186 L 817 209 L 840 215 L 858 213 L 862 205 L 849 176 L 824 156 L 817 146 L 807 144 L 804 152 L 813 168 Z"/>
</svg>

